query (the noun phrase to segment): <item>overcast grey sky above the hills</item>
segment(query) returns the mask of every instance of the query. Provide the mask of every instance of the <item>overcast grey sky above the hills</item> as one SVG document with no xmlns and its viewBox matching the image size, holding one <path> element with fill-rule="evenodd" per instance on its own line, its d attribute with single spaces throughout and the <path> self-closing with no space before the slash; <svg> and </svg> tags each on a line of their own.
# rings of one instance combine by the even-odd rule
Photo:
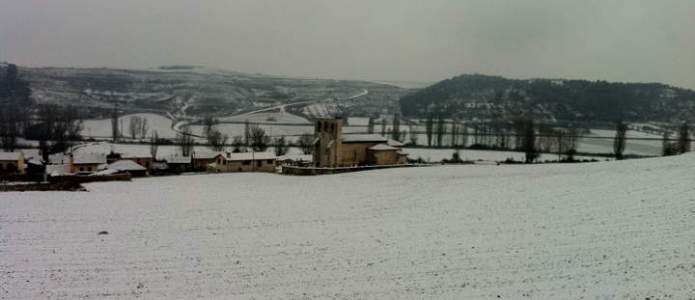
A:
<svg viewBox="0 0 695 300">
<path fill-rule="evenodd" d="M 695 88 L 692 0 L 0 0 L 0 61 Z"/>
</svg>

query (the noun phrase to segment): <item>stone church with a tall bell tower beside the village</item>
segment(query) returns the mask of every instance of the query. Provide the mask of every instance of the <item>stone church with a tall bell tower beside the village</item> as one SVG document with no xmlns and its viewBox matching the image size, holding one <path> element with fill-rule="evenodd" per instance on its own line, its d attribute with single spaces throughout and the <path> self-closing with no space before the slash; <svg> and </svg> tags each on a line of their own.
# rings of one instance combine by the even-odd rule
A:
<svg viewBox="0 0 695 300">
<path fill-rule="evenodd" d="M 389 166 L 408 162 L 402 143 L 376 134 L 343 135 L 343 119 L 316 122 L 314 164 L 320 168 Z"/>
</svg>

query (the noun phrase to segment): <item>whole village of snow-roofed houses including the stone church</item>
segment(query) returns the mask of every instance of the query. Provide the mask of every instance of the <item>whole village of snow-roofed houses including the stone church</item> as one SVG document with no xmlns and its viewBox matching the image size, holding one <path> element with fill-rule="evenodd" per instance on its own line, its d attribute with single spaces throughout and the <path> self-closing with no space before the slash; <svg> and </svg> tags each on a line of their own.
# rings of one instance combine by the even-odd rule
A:
<svg viewBox="0 0 695 300">
<path fill-rule="evenodd" d="M 401 142 L 378 134 L 343 134 L 342 118 L 319 119 L 315 124 L 312 155 L 225 150 L 157 159 L 150 153 L 66 152 L 49 155 L 44 161 L 38 149 L 20 149 L 0 152 L 0 173 L 27 181 L 85 183 L 190 172 L 321 175 L 411 166 Z"/>
</svg>

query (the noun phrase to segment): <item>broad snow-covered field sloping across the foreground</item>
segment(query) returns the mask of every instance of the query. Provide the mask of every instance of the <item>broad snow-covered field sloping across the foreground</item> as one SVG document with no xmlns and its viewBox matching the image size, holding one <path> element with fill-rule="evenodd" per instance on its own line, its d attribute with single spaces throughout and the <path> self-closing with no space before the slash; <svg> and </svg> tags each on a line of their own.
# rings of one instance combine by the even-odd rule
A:
<svg viewBox="0 0 695 300">
<path fill-rule="evenodd" d="M 686 155 L 0 194 L 0 298 L 692 299 L 694 166 Z"/>
</svg>

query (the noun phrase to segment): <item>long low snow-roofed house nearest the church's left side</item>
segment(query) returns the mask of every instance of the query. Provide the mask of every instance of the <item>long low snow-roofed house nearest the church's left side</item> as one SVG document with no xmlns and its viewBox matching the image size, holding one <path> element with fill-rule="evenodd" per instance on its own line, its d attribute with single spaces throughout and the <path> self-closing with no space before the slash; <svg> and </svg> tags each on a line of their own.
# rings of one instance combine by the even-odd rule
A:
<svg viewBox="0 0 695 300">
<path fill-rule="evenodd" d="M 275 172 L 275 154 L 269 152 L 219 153 L 210 172 Z"/>
</svg>

